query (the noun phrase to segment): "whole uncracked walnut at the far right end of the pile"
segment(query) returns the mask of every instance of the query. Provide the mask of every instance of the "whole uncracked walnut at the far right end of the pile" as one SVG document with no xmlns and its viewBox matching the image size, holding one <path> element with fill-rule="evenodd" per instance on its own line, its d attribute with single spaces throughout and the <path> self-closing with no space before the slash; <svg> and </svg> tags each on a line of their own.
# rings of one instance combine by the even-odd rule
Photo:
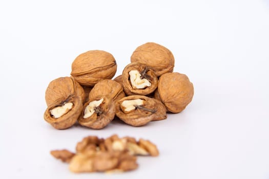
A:
<svg viewBox="0 0 269 179">
<path fill-rule="evenodd" d="M 180 113 L 192 101 L 194 89 L 187 75 L 166 73 L 159 78 L 158 93 L 168 111 Z"/>
</svg>

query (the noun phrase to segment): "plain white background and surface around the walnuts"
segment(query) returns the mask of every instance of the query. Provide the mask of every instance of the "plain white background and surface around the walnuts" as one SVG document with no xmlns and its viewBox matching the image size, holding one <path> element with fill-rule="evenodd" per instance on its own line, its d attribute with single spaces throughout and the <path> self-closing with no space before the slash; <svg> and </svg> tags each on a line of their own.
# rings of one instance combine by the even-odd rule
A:
<svg viewBox="0 0 269 179">
<path fill-rule="evenodd" d="M 153 41 L 194 84 L 192 103 L 167 120 L 105 129 L 46 123 L 49 82 L 88 50 L 112 53 L 116 75 Z M 268 1 L 1 1 L 1 178 L 269 178 Z M 133 172 L 74 174 L 52 149 L 88 135 L 142 137 L 157 158 Z"/>
</svg>

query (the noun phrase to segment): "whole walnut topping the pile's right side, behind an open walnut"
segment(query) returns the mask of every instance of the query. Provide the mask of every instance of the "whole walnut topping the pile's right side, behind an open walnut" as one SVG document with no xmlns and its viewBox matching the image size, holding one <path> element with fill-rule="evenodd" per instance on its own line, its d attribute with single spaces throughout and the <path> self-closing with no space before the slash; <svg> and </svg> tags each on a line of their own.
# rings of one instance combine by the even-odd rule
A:
<svg viewBox="0 0 269 179">
<path fill-rule="evenodd" d="M 157 76 L 173 72 L 175 65 L 172 52 L 154 42 L 137 47 L 131 56 L 131 62 L 140 62 L 151 66 Z"/>
</svg>

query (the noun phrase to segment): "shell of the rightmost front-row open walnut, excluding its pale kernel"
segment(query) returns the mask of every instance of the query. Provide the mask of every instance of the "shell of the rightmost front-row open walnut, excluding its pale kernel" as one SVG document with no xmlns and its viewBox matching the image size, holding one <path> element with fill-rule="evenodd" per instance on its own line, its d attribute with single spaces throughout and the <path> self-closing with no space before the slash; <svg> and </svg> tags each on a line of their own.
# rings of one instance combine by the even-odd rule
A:
<svg viewBox="0 0 269 179">
<path fill-rule="evenodd" d="M 142 108 L 137 107 L 130 113 L 125 113 L 121 108 L 121 103 L 125 100 L 142 99 Z M 146 109 L 143 109 L 146 108 Z M 166 119 L 166 109 L 159 101 L 142 95 L 133 95 L 122 98 L 116 102 L 116 116 L 123 122 L 132 126 L 145 125 L 152 120 Z"/>
</svg>

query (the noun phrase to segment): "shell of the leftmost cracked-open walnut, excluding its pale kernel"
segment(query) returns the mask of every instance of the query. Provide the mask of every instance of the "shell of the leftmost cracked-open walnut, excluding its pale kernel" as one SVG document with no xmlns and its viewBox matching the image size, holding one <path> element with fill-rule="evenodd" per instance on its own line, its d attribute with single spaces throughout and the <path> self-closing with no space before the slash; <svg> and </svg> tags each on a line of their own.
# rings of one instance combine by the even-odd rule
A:
<svg viewBox="0 0 269 179">
<path fill-rule="evenodd" d="M 73 107 L 68 111 L 68 113 L 57 119 L 52 117 L 50 114 L 51 109 L 57 106 L 62 106 L 64 103 L 69 102 L 73 103 Z M 82 107 L 82 99 L 80 96 L 71 95 L 68 98 L 61 98 L 48 106 L 44 113 L 44 119 L 56 129 L 66 129 L 76 123 L 81 113 Z"/>
</svg>

